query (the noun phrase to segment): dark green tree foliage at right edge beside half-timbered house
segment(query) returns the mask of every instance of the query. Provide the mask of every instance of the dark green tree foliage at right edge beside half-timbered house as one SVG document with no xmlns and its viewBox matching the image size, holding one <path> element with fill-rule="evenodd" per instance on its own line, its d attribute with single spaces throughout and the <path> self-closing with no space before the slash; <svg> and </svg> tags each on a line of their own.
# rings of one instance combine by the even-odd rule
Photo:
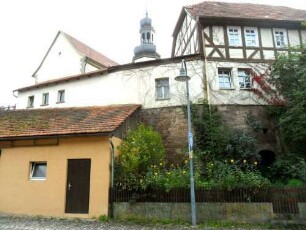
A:
<svg viewBox="0 0 306 230">
<path fill-rule="evenodd" d="M 270 83 L 281 93 L 285 107 L 278 110 L 277 122 L 287 144 L 306 141 L 306 49 L 280 55 L 274 63 Z"/>
</svg>

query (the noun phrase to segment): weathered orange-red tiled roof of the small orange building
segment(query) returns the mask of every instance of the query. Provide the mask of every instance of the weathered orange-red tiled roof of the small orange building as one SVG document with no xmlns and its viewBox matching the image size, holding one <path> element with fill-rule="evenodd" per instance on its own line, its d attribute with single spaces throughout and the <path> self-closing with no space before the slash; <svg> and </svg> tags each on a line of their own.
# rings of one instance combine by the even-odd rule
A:
<svg viewBox="0 0 306 230">
<path fill-rule="evenodd" d="M 0 139 L 99 134 L 116 130 L 140 105 L 23 109 L 0 112 Z"/>
</svg>

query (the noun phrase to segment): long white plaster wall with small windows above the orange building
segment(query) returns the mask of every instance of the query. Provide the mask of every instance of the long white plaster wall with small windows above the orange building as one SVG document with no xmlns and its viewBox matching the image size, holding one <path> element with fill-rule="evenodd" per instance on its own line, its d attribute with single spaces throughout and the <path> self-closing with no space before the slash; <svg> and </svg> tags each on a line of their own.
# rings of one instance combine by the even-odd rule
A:
<svg viewBox="0 0 306 230">
<path fill-rule="evenodd" d="M 203 98 L 202 61 L 186 62 L 190 98 Z M 180 63 L 118 71 L 97 77 L 65 82 L 19 93 L 17 109 L 27 108 L 28 97 L 34 95 L 34 108 L 94 106 L 110 104 L 142 104 L 144 108 L 175 106 L 186 103 L 186 85 L 177 82 Z M 169 78 L 170 99 L 155 100 L 155 79 Z M 57 104 L 58 90 L 65 90 L 65 103 Z M 49 105 L 41 106 L 42 94 L 49 93 Z"/>
</svg>

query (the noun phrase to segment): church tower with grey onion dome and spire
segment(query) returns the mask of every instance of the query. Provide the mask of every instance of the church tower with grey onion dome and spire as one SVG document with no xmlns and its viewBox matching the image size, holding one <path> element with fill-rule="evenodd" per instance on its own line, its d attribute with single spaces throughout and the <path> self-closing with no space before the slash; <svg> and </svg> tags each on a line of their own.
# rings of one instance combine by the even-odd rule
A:
<svg viewBox="0 0 306 230">
<path fill-rule="evenodd" d="M 140 20 L 140 46 L 136 46 L 134 49 L 133 62 L 149 61 L 160 59 L 160 55 L 156 52 L 156 46 L 154 45 L 154 28 L 152 26 L 152 20 L 146 17 Z"/>
</svg>

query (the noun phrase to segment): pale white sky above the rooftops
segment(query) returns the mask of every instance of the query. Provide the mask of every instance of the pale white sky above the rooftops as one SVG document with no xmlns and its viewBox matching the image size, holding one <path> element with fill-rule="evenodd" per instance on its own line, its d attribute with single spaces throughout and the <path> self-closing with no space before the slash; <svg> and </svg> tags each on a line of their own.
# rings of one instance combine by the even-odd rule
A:
<svg viewBox="0 0 306 230">
<path fill-rule="evenodd" d="M 161 58 L 171 55 L 172 33 L 183 6 L 204 0 L 7 0 L 0 2 L 0 106 L 14 105 L 13 90 L 34 84 L 31 77 L 57 32 L 75 37 L 125 64 L 140 45 L 146 10 Z M 217 1 L 217 0 L 216 0 Z M 305 0 L 222 0 L 283 5 L 306 10 Z"/>
</svg>

